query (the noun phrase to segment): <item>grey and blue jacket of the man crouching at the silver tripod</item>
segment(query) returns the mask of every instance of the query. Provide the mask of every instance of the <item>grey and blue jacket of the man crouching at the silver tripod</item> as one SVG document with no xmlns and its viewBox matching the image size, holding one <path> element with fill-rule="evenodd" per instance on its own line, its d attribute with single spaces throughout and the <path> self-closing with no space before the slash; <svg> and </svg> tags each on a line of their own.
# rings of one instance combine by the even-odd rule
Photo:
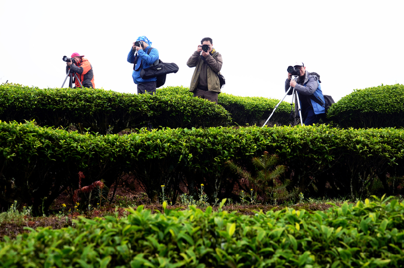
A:
<svg viewBox="0 0 404 268">
<path fill-rule="evenodd" d="M 309 98 L 310 104 L 311 104 L 311 107 L 313 108 L 314 113 L 315 114 L 324 114 L 326 112 L 326 108 L 325 108 L 325 103 L 326 102 L 324 100 L 323 92 L 321 90 L 320 81 L 318 80 L 317 76 L 316 75 L 310 75 L 310 73 L 306 71 L 306 73 L 304 75 L 303 85 L 300 84 L 301 81 L 299 81 L 300 80 L 299 78 L 300 77 L 296 78 L 297 84 L 295 86 L 295 90 L 296 90 L 297 94 L 299 94 L 300 107 L 302 106 L 301 105 L 302 99 L 303 98 Z M 285 91 L 287 91 L 287 89 L 289 88 L 289 83 L 290 83 L 290 80 L 286 79 Z M 288 93 L 288 95 L 291 95 L 291 94 L 292 94 L 292 91 L 290 91 Z M 322 102 L 323 105 L 320 105 L 316 101 L 313 101 L 313 99 L 310 98 L 310 97 L 316 98 L 317 100 Z"/>
</svg>

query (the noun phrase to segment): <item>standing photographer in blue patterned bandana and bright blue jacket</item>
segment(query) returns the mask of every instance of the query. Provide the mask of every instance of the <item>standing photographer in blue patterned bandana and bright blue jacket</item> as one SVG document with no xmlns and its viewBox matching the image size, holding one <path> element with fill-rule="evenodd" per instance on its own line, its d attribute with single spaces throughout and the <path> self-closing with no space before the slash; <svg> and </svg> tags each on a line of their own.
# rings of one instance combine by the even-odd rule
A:
<svg viewBox="0 0 404 268">
<path fill-rule="evenodd" d="M 133 42 L 132 48 L 127 55 L 127 61 L 133 63 L 133 82 L 138 86 L 138 94 L 149 93 L 151 95 L 156 94 L 156 77 L 149 79 L 143 79 L 140 76 L 140 71 L 147 67 L 150 67 L 154 62 L 158 62 L 158 51 L 155 48 L 151 48 L 150 53 L 148 50 L 152 42 L 146 36 L 139 36 L 136 42 Z"/>
</svg>

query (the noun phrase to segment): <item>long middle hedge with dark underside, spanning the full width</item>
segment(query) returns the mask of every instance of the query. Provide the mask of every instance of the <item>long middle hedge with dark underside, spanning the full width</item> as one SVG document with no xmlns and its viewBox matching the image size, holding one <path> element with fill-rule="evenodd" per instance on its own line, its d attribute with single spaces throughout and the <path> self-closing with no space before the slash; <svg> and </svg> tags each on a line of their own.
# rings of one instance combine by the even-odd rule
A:
<svg viewBox="0 0 404 268">
<path fill-rule="evenodd" d="M 185 182 L 192 195 L 204 184 L 212 202 L 229 197 L 239 181 L 226 161 L 254 170 L 252 157 L 264 151 L 279 156 L 291 187 L 307 196 L 364 196 L 379 182 L 382 192 L 393 193 L 397 185 L 390 178 L 404 175 L 403 136 L 402 129 L 327 125 L 140 129 L 93 136 L 33 122 L 0 122 L 0 202 L 8 207 L 18 200 L 46 210 L 61 191 L 77 189 L 79 171 L 85 175 L 82 185 L 104 180 L 108 187 L 122 174 L 134 174 L 152 201 L 161 185 L 175 202 L 179 184 Z"/>
</svg>

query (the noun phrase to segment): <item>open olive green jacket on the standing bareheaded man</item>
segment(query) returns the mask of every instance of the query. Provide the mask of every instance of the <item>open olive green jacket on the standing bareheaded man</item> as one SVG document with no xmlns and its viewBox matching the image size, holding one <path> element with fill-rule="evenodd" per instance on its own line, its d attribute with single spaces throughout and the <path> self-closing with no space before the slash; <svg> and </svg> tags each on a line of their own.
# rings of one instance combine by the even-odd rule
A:
<svg viewBox="0 0 404 268">
<path fill-rule="evenodd" d="M 223 61 L 221 59 L 220 53 L 212 50 L 212 54 L 205 58 L 207 62 L 207 79 L 208 79 L 208 90 L 213 92 L 220 93 L 220 82 L 219 77 L 217 77 L 216 73 L 220 73 L 221 65 Z M 192 75 L 190 92 L 194 92 L 199 82 L 199 74 L 201 72 L 201 68 L 203 65 L 203 60 L 200 56 L 200 53 L 195 51 L 194 54 L 188 59 L 187 65 L 189 67 L 196 67 L 194 74 Z M 205 65 L 206 66 L 206 65 Z"/>
</svg>

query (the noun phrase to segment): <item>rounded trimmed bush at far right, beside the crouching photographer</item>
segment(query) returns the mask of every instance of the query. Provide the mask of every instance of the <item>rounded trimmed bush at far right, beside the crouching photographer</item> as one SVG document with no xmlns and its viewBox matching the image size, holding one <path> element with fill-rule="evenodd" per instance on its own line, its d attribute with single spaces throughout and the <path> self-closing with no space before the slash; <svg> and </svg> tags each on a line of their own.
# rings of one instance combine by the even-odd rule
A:
<svg viewBox="0 0 404 268">
<path fill-rule="evenodd" d="M 403 127 L 404 85 L 354 90 L 331 106 L 328 117 L 345 128 Z"/>
</svg>

